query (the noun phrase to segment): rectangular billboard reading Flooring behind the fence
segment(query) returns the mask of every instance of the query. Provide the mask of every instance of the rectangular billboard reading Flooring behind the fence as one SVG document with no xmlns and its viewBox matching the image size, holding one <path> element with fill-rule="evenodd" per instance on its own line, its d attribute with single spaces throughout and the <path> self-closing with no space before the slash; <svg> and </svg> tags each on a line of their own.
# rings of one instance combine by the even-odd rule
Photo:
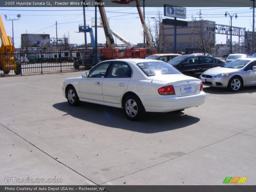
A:
<svg viewBox="0 0 256 192">
<path fill-rule="evenodd" d="M 21 46 L 24 48 L 49 48 L 49 34 L 21 34 Z"/>
</svg>

